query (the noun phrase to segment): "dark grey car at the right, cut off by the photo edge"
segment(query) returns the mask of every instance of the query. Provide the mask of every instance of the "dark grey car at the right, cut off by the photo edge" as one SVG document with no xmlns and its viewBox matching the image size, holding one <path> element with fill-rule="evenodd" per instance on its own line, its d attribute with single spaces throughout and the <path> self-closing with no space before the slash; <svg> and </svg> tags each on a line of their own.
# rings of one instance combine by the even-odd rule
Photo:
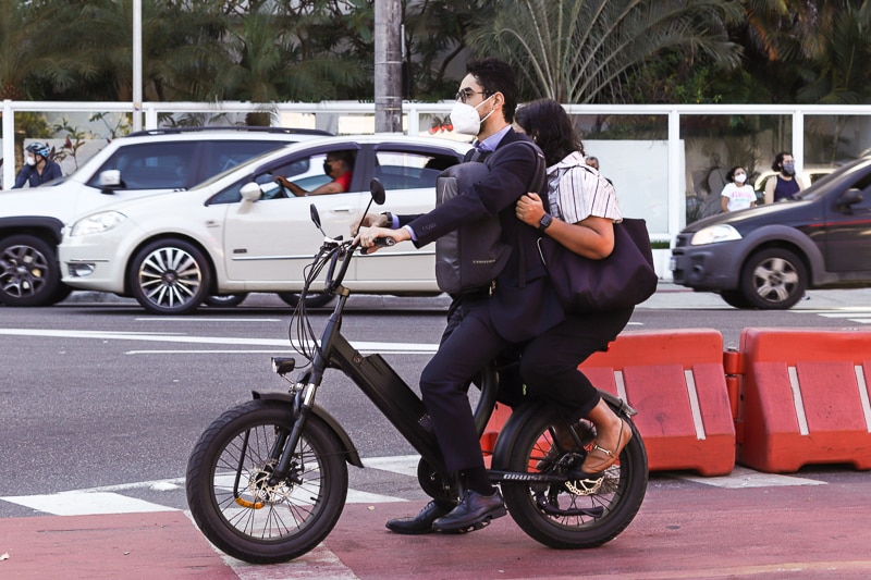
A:
<svg viewBox="0 0 871 580">
<path fill-rule="evenodd" d="M 676 284 L 736 308 L 786 309 L 808 288 L 871 287 L 871 157 L 790 201 L 688 225 L 671 269 Z"/>
</svg>

